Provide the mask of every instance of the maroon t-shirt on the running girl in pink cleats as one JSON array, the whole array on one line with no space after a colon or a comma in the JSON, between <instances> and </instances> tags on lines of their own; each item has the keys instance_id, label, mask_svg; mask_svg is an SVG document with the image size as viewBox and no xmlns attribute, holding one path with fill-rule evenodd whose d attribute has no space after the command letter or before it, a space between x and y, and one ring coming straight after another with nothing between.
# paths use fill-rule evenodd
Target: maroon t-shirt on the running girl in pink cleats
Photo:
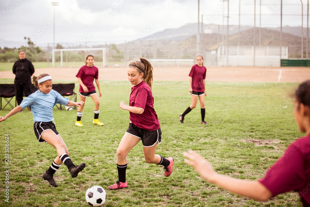
<instances>
[{"instance_id":1,"label":"maroon t-shirt on the running girl in pink cleats","mask_svg":"<svg viewBox=\"0 0 310 207\"><path fill-rule=\"evenodd\" d=\"M139 128L154 131L160 128L157 114L154 110L154 98L148 84L141 81L136 86L131 88L129 106L144 108L142 114L129 112L131 123Z\"/></svg>"}]
</instances>

